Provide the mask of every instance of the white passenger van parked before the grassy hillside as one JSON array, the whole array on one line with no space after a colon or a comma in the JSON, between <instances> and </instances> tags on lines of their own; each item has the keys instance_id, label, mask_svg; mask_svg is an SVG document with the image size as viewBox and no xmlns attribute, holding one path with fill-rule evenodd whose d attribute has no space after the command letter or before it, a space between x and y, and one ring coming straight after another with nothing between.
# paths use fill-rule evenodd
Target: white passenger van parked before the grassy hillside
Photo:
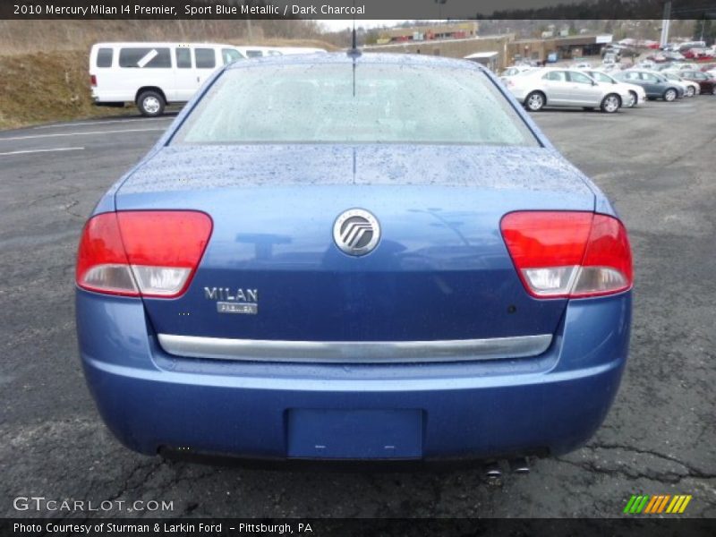
<instances>
[{"instance_id":1,"label":"white passenger van parked before the grassy hillside","mask_svg":"<svg viewBox=\"0 0 716 537\"><path fill-rule=\"evenodd\" d=\"M142 115L161 115L167 104L192 98L222 65L272 50L217 43L98 43L90 51L92 99L105 107L134 103Z\"/></svg>"}]
</instances>

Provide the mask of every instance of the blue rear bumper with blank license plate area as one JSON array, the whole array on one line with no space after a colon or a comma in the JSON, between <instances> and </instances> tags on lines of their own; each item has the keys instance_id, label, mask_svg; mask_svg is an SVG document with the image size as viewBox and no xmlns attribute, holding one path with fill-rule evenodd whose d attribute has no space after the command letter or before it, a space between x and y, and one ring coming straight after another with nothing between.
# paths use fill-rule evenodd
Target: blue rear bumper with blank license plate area
<instances>
[{"instance_id":1,"label":"blue rear bumper with blank license plate area","mask_svg":"<svg viewBox=\"0 0 716 537\"><path fill-rule=\"evenodd\" d=\"M78 291L77 314L90 391L132 449L430 461L583 444L617 393L631 294L572 301L540 356L433 364L175 358L158 346L139 300Z\"/></svg>"}]
</instances>

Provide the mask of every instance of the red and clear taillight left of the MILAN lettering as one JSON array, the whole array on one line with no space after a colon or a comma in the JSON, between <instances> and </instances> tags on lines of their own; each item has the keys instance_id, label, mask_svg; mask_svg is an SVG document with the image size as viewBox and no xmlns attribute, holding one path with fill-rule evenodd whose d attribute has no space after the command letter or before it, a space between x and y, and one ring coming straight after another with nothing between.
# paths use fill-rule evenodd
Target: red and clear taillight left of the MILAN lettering
<instances>
[{"instance_id":1,"label":"red and clear taillight left of the MILAN lettering","mask_svg":"<svg viewBox=\"0 0 716 537\"><path fill-rule=\"evenodd\" d=\"M77 255L83 289L173 298L186 291L209 243L211 218L197 211L121 211L92 217Z\"/></svg>"}]
</instances>

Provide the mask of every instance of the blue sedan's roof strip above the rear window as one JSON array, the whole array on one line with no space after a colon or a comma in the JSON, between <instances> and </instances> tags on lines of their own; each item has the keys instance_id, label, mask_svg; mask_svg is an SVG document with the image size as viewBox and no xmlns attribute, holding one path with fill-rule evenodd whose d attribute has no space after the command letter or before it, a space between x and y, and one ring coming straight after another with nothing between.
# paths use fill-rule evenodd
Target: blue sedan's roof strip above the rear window
<instances>
[{"instance_id":1,"label":"blue sedan's roof strip above the rear window","mask_svg":"<svg viewBox=\"0 0 716 537\"><path fill-rule=\"evenodd\" d=\"M306 65L306 64L386 64L386 65L426 65L435 67L454 67L473 69L486 72L487 70L477 62L464 59L446 58L443 56L420 54L389 54L365 53L361 55L348 55L346 52L315 53L305 55L274 55L261 58L252 58L241 62L227 64L225 69L247 69L258 65Z\"/></svg>"}]
</instances>

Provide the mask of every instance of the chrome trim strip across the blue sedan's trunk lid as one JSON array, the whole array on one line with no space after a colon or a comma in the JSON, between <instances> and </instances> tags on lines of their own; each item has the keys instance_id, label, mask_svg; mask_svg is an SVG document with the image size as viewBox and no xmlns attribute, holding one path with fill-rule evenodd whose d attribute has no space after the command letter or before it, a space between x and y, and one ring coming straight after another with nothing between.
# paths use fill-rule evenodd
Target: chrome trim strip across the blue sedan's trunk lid
<instances>
[{"instance_id":1,"label":"chrome trim strip across the blue sedan's trunk lid","mask_svg":"<svg viewBox=\"0 0 716 537\"><path fill-rule=\"evenodd\" d=\"M536 356L551 334L444 341L278 341L159 334L169 354L251 362L469 362Z\"/></svg>"}]
</instances>

